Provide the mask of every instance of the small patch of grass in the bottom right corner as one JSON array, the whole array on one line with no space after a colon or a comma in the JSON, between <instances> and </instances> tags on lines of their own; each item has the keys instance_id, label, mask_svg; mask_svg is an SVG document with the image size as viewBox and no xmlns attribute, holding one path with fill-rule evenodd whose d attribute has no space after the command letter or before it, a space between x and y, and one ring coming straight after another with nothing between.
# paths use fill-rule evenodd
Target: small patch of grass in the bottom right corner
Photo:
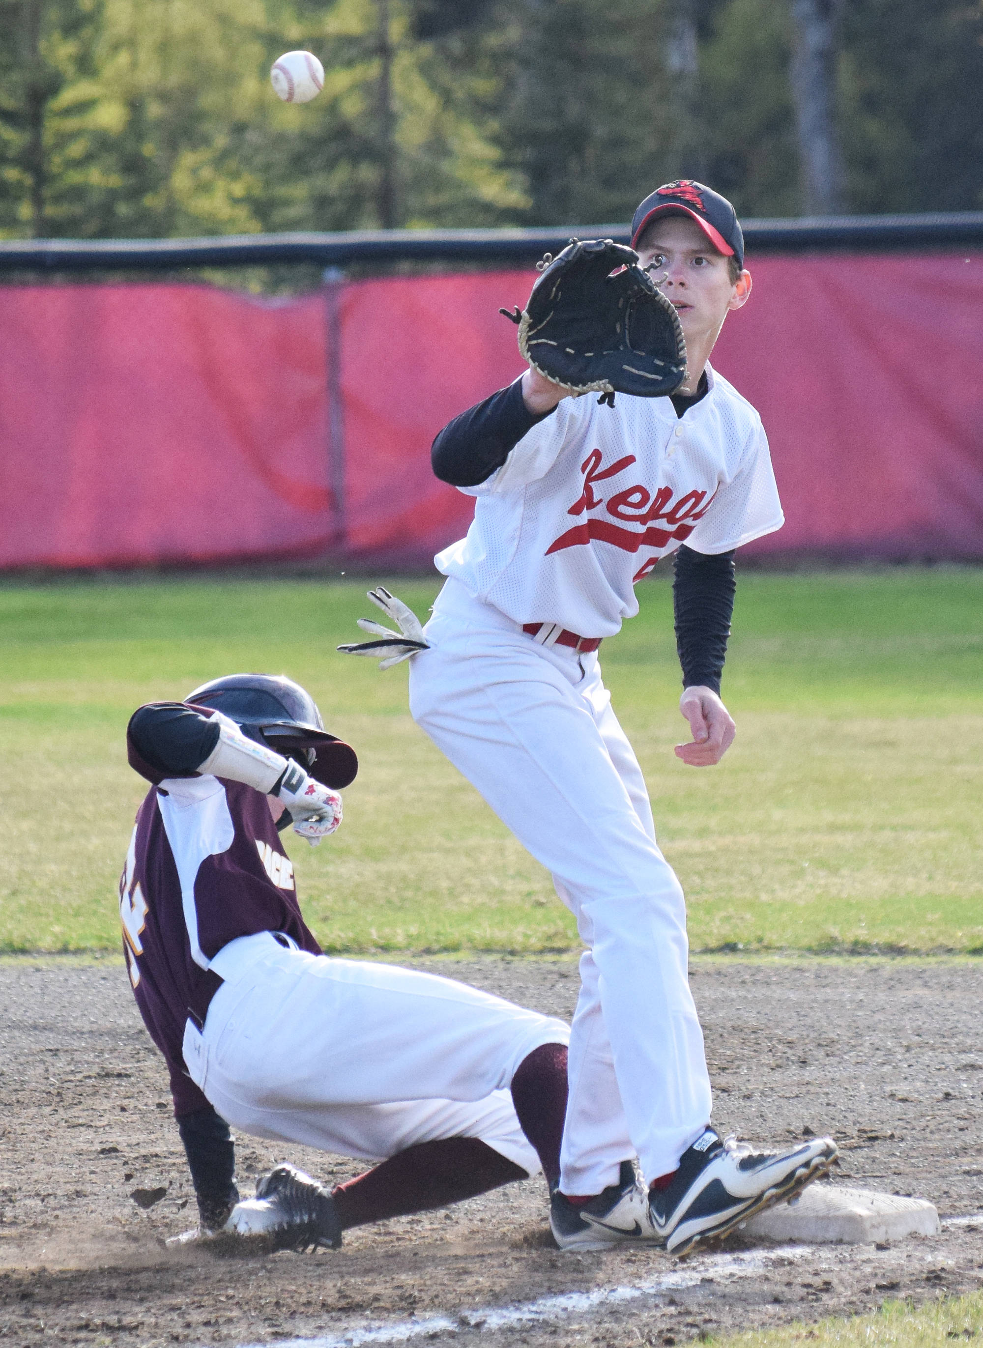
<instances>
[{"instance_id":1,"label":"small patch of grass in the bottom right corner","mask_svg":"<svg viewBox=\"0 0 983 1348\"><path fill-rule=\"evenodd\" d=\"M983 1294L947 1297L913 1310L906 1302L887 1301L868 1316L793 1324L779 1329L752 1329L713 1339L719 1348L952 1348L983 1335Z\"/></svg>"}]
</instances>

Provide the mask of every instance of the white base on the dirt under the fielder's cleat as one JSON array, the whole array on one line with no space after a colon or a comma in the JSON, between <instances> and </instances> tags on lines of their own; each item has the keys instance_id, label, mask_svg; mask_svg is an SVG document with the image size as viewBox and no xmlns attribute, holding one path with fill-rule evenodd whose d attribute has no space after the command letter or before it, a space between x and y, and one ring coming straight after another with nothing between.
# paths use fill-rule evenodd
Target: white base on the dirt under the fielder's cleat
<instances>
[{"instance_id":1,"label":"white base on the dirt under the fielder's cleat","mask_svg":"<svg viewBox=\"0 0 983 1348\"><path fill-rule=\"evenodd\" d=\"M744 1236L847 1246L937 1236L940 1229L939 1213L925 1198L895 1198L832 1184L812 1184L801 1197L759 1212L740 1227Z\"/></svg>"}]
</instances>

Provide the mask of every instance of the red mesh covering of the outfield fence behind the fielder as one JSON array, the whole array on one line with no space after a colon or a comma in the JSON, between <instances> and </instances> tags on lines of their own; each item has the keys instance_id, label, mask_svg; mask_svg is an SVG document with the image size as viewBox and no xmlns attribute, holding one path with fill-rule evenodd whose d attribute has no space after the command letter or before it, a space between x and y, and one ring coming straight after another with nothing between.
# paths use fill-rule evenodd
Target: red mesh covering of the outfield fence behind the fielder
<instances>
[{"instance_id":1,"label":"red mesh covering of the outfield fence behind the fielder","mask_svg":"<svg viewBox=\"0 0 983 1348\"><path fill-rule=\"evenodd\" d=\"M747 551L983 558L983 251L748 267L713 363L787 522ZM423 558L472 514L430 442L520 372L534 275L0 287L0 568Z\"/></svg>"}]
</instances>

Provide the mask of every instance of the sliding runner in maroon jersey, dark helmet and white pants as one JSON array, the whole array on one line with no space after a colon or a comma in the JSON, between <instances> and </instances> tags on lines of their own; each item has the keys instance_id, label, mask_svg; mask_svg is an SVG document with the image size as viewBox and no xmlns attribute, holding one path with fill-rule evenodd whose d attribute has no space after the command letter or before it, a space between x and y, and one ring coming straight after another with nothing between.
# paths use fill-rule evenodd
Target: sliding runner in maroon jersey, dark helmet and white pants
<instances>
[{"instance_id":1,"label":"sliding runner in maroon jersey, dark helmet and white pants","mask_svg":"<svg viewBox=\"0 0 983 1348\"><path fill-rule=\"evenodd\" d=\"M329 958L303 922L278 830L333 833L334 789L357 770L310 696L227 675L139 708L127 744L151 789L120 880L123 948L201 1231L337 1247L348 1227L541 1169L556 1182L568 1026L450 979ZM382 1165L330 1193L280 1165L240 1202L229 1124Z\"/></svg>"}]
</instances>

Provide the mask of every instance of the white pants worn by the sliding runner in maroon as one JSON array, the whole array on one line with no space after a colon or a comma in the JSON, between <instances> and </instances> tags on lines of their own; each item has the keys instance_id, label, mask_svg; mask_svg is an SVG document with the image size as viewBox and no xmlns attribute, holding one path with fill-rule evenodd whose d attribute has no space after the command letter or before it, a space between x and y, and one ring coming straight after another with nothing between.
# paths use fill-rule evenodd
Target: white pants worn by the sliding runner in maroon
<instances>
[{"instance_id":1,"label":"white pants worn by the sliding runner in maroon","mask_svg":"<svg viewBox=\"0 0 983 1348\"><path fill-rule=\"evenodd\" d=\"M191 1080L236 1128L382 1161L419 1142L480 1138L529 1174L539 1161L510 1082L562 1020L463 983L240 937L212 968L225 981L200 1033Z\"/></svg>"}]
</instances>

